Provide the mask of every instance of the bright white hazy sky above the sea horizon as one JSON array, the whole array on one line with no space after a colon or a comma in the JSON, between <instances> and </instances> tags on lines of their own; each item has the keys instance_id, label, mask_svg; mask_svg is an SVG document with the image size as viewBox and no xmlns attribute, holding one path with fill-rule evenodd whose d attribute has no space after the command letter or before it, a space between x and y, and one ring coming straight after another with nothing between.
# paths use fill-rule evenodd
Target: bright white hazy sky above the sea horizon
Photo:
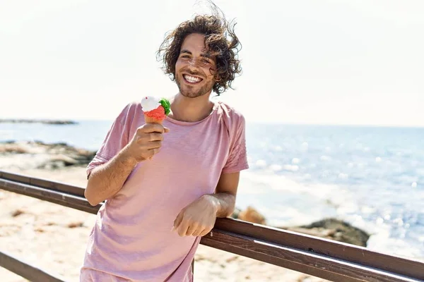
<instances>
[{"instance_id":1,"label":"bright white hazy sky above the sea horizon","mask_svg":"<svg viewBox=\"0 0 424 282\"><path fill-rule=\"evenodd\" d=\"M196 1L1 1L0 118L112 119L176 85L155 61ZM216 1L247 121L424 126L424 1Z\"/></svg>"}]
</instances>

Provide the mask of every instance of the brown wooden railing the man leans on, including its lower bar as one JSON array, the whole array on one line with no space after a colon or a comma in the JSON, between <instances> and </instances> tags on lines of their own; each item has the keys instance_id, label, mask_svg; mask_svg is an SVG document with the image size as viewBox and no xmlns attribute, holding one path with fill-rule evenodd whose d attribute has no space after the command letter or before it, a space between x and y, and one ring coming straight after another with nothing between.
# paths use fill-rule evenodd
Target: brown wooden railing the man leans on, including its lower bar
<instances>
[{"instance_id":1,"label":"brown wooden railing the man leans on, including its lower bar","mask_svg":"<svg viewBox=\"0 0 424 282\"><path fill-rule=\"evenodd\" d=\"M0 189L96 214L84 189L0 171ZM235 219L217 219L201 244L330 281L424 281L424 263L334 240ZM63 281L0 250L0 266L30 281Z\"/></svg>"}]
</instances>

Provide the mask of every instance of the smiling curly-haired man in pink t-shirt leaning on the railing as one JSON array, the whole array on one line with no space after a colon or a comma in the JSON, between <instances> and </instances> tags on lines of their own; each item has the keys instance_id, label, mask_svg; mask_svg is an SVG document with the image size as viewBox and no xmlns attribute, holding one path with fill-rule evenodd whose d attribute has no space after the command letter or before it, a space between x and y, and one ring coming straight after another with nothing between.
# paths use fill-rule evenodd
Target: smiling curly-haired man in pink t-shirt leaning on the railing
<instances>
[{"instance_id":1,"label":"smiling curly-haired man in pink t-shirt leaning on the railing","mask_svg":"<svg viewBox=\"0 0 424 282\"><path fill-rule=\"evenodd\" d=\"M105 204L81 281L192 281L200 238L232 214L248 168L245 119L209 99L240 73L233 27L219 16L181 23L158 51L179 89L170 115L145 124L136 102L112 124L87 168L86 198Z\"/></svg>"}]
</instances>

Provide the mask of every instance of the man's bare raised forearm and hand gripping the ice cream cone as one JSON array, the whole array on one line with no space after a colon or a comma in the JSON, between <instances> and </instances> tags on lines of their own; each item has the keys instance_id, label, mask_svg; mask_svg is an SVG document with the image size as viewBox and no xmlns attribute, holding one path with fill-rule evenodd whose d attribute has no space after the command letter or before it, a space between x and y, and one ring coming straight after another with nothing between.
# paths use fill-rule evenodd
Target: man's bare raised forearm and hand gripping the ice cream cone
<instances>
[{"instance_id":1,"label":"man's bare raised forearm and hand gripping the ice cream cone","mask_svg":"<svg viewBox=\"0 0 424 282\"><path fill-rule=\"evenodd\" d=\"M84 192L88 202L95 206L119 192L134 166L159 152L163 133L168 131L162 125L153 123L139 127L129 144L110 161L91 171Z\"/></svg>"}]
</instances>

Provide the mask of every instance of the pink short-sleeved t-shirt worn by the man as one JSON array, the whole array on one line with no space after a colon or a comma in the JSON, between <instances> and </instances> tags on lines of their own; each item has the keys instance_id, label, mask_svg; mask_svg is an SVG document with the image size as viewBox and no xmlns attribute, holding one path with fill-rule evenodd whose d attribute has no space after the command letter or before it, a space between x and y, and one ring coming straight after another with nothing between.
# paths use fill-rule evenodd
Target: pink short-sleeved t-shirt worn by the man
<instances>
[{"instance_id":1,"label":"pink short-sleeved t-shirt worn by the man","mask_svg":"<svg viewBox=\"0 0 424 282\"><path fill-rule=\"evenodd\" d=\"M128 104L112 124L87 173L109 161L143 125L140 103ZM221 173L248 168L245 118L218 102L198 122L167 117L162 148L139 163L106 200L88 238L81 281L192 281L200 238L171 231L177 214L215 191Z\"/></svg>"}]
</instances>

